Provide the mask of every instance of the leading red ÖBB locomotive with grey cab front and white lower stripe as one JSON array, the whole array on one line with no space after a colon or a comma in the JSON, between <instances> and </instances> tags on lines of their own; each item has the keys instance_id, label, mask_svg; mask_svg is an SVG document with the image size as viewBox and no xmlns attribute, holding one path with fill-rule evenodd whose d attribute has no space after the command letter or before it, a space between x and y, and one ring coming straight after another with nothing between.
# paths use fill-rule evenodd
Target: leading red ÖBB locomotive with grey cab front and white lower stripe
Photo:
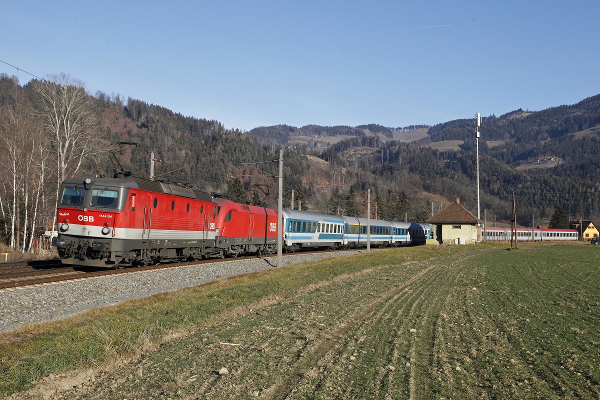
<instances>
[{"instance_id":1,"label":"leading red \u00d6BB locomotive with grey cab front and white lower stripe","mask_svg":"<svg viewBox=\"0 0 600 400\"><path fill-rule=\"evenodd\" d=\"M57 212L63 263L122 268L215 252L217 204L188 187L86 174L62 182Z\"/></svg>"}]
</instances>

